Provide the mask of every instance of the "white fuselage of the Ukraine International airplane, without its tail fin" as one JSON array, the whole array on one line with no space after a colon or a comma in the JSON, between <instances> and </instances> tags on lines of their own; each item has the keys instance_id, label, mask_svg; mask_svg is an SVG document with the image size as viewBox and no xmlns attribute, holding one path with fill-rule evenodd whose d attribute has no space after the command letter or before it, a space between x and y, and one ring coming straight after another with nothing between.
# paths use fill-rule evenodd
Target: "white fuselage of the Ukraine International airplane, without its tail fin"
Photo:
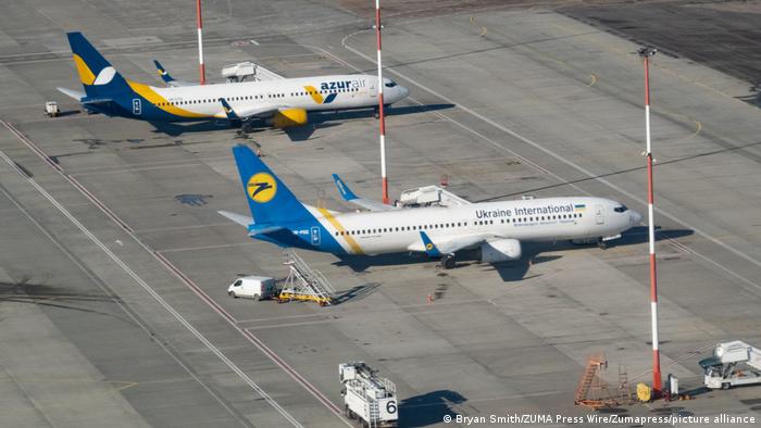
<instances>
[{"instance_id":1,"label":"white fuselage of the Ukraine International airplane, without its tail fin","mask_svg":"<svg viewBox=\"0 0 761 428\"><path fill-rule=\"evenodd\" d=\"M308 206L316 219L284 225L287 230L255 238L336 254L425 251L421 231L436 242L483 235L519 241L613 237L641 216L602 198L549 198L431 206L383 212L335 213ZM616 210L621 210L620 212Z\"/></svg>"}]
</instances>

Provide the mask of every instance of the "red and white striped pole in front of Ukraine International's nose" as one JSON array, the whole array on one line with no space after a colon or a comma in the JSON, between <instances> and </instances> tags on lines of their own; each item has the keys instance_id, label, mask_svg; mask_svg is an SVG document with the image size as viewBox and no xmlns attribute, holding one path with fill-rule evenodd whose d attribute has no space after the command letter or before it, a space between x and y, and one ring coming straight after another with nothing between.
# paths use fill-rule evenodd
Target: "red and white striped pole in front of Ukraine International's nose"
<instances>
[{"instance_id":1,"label":"red and white striped pole in front of Ukraine International's nose","mask_svg":"<svg viewBox=\"0 0 761 428\"><path fill-rule=\"evenodd\" d=\"M650 317L652 327L652 389L661 394L661 355L658 350L658 278L656 275L656 224L653 222L652 146L650 144L650 58L653 48L641 48L638 53L645 65L645 133L647 155L647 213L648 241L650 242Z\"/></svg>"}]
</instances>

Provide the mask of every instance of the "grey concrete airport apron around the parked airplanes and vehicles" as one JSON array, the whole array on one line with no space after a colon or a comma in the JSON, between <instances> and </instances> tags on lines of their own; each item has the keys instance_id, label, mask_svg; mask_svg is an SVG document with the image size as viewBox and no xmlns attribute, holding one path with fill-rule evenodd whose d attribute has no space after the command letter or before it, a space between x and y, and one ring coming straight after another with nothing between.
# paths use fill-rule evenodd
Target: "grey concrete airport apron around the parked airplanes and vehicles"
<instances>
[{"instance_id":1,"label":"grey concrete airport apron around the parked airplanes and vehicles","mask_svg":"<svg viewBox=\"0 0 761 428\"><path fill-rule=\"evenodd\" d=\"M289 77L373 72L366 16L254 3L207 5L211 79L241 60ZM0 425L342 426L336 368L357 360L397 383L408 427L584 417L573 393L595 352L612 390L619 369L632 389L649 381L644 226L608 250L529 243L519 263L452 270L300 252L339 304L228 298L238 275L287 274L280 250L216 213L247 211L230 147L260 148L304 202L350 210L330 173L379 198L377 122L325 113L239 134L87 115L54 89L78 88L63 30L132 79L160 85L153 58L197 77L192 11L92 4L20 2L0 21L0 396L16 410ZM391 194L446 179L472 201L594 194L645 212L637 45L549 10L484 8L386 22L386 76L412 92L387 118ZM753 92L666 55L652 85L662 366L699 393L614 412L758 420L756 389L699 390L697 365L720 341L761 344ZM42 115L48 99L63 116Z\"/></svg>"}]
</instances>

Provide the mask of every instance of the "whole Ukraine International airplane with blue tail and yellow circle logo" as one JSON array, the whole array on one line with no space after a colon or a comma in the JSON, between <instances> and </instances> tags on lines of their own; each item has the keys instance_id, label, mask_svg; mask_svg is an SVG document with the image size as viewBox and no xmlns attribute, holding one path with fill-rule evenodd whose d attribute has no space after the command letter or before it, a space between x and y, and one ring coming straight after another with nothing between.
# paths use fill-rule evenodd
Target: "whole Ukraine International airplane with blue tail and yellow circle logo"
<instances>
[{"instance_id":1,"label":"whole Ukraine International airplane with blue tail and yellow circle logo","mask_svg":"<svg viewBox=\"0 0 761 428\"><path fill-rule=\"evenodd\" d=\"M299 202L246 146L233 148L253 217L221 211L249 236L280 247L334 254L425 252L454 266L454 253L481 249L488 263L521 259L522 241L616 238L643 216L601 198L547 198L398 209L357 198L334 176L345 200L369 212L338 213Z\"/></svg>"}]
</instances>

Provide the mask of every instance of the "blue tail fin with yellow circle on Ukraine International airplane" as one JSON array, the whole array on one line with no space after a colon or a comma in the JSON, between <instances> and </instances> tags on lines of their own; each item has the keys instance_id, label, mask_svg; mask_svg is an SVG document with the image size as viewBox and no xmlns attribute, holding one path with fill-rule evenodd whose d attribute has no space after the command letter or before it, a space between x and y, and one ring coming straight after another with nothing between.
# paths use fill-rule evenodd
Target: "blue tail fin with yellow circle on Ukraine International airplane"
<instances>
[{"instance_id":1,"label":"blue tail fin with yellow circle on Ukraine International airplane","mask_svg":"<svg viewBox=\"0 0 761 428\"><path fill-rule=\"evenodd\" d=\"M314 218L250 148L238 144L233 155L254 222L282 225Z\"/></svg>"}]
</instances>

